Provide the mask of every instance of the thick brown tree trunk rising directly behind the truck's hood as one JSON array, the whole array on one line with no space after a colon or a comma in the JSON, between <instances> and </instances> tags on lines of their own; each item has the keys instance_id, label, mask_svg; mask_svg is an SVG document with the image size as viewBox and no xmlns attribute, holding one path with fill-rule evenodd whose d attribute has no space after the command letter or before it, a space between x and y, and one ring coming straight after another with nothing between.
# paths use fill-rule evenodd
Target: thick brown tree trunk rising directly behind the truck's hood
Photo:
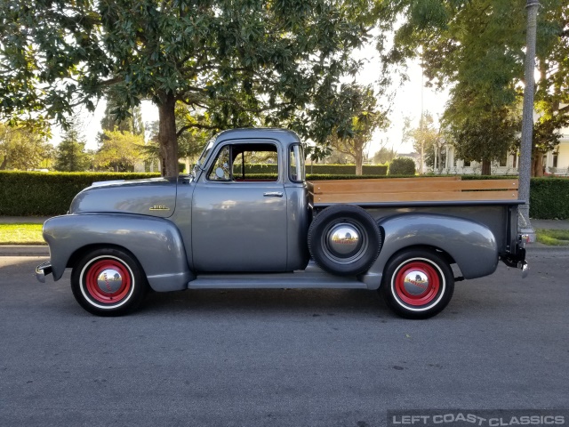
<instances>
[{"instance_id":1,"label":"thick brown tree trunk rising directly behind the truck's hood","mask_svg":"<svg viewBox=\"0 0 569 427\"><path fill-rule=\"evenodd\" d=\"M176 135L176 117L174 107L176 100L173 93L160 93L158 105L158 142L162 157L164 176L178 176L178 137Z\"/></svg>"}]
</instances>

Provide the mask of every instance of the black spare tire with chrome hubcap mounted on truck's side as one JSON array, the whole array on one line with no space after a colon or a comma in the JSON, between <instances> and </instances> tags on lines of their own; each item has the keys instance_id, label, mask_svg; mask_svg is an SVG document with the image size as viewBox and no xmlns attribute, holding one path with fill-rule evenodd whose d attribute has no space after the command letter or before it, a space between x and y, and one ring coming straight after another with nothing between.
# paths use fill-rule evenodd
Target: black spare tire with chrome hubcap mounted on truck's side
<instances>
[{"instance_id":1,"label":"black spare tire with chrome hubcap mounted on truck's side","mask_svg":"<svg viewBox=\"0 0 569 427\"><path fill-rule=\"evenodd\" d=\"M381 250L381 232L372 215L355 205L332 205L309 227L309 251L330 273L354 276L372 266Z\"/></svg>"}]
</instances>

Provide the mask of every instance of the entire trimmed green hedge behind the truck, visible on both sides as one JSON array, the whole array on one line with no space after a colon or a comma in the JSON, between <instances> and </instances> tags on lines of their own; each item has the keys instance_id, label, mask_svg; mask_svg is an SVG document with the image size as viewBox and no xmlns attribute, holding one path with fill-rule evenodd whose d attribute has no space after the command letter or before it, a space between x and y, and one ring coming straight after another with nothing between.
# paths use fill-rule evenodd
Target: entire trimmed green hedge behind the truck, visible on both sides
<instances>
[{"instance_id":1,"label":"entire trimmed green hedge behind the truck, visible on both sides","mask_svg":"<svg viewBox=\"0 0 569 427\"><path fill-rule=\"evenodd\" d=\"M316 167L317 165L315 165ZM342 166L342 165L340 165ZM307 166L307 172L309 172ZM373 166L372 166L373 167ZM385 167L385 166L383 166ZM95 181L133 180L159 176L157 173L41 173L0 171L0 216L51 216L65 214L73 197ZM257 178L270 178L255 173ZM308 180L357 180L389 178L384 174L308 173ZM516 176L462 175L462 180L504 179ZM569 179L533 178L530 189L532 218L569 219Z\"/></svg>"}]
</instances>

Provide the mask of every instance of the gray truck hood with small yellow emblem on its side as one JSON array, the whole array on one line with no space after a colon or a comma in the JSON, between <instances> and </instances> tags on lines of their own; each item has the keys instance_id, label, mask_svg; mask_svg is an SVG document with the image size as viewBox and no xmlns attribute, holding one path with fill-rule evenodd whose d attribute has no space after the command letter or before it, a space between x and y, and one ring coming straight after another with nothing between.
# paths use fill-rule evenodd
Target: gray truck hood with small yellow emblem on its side
<instances>
[{"instance_id":1,"label":"gray truck hood with small yellow emblem on its side","mask_svg":"<svg viewBox=\"0 0 569 427\"><path fill-rule=\"evenodd\" d=\"M168 218L176 208L176 178L95 182L71 202L69 214L120 213Z\"/></svg>"}]
</instances>

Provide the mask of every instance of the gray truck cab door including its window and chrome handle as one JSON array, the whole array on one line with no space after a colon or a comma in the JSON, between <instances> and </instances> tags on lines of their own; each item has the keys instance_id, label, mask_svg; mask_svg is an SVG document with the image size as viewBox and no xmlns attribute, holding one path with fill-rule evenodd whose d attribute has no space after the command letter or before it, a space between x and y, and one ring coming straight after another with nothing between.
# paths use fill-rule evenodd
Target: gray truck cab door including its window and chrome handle
<instances>
[{"instance_id":1,"label":"gray truck cab door including its window and chrome handle","mask_svg":"<svg viewBox=\"0 0 569 427\"><path fill-rule=\"evenodd\" d=\"M228 141L213 158L192 200L195 269L286 270L286 194L277 145Z\"/></svg>"}]
</instances>

